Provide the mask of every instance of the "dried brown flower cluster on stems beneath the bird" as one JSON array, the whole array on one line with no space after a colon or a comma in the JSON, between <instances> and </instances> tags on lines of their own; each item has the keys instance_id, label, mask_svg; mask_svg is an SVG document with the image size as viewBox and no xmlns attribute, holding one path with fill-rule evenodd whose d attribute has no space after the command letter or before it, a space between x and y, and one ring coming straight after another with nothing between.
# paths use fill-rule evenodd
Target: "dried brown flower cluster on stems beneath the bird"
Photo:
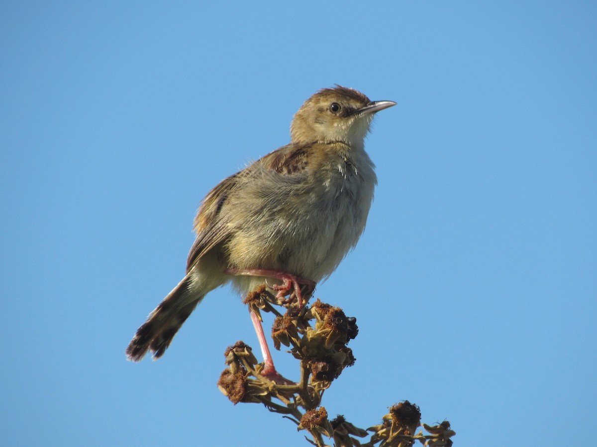
<instances>
[{"instance_id":1,"label":"dried brown flower cluster on stems beneath the bird","mask_svg":"<svg viewBox=\"0 0 597 447\"><path fill-rule=\"evenodd\" d=\"M308 299L307 299L308 300ZM346 344L358 334L356 318L344 315L342 309L317 300L313 305L298 306L293 300L282 300L258 287L247 296L245 303L261 318L260 312L276 315L272 339L276 349L282 345L300 361L300 380L297 383L276 383L261 375L263 364L258 364L251 347L236 342L226 349L228 367L220 375L218 387L233 403L263 403L267 409L284 415L306 430L313 445L323 447L324 437L333 439L336 447L367 446L407 447L417 440L426 446L451 446L454 436L450 423L436 426L423 424L430 434L422 430L421 413L417 405L408 401L390 407L381 424L359 429L347 422L342 415L328 420L328 413L321 406L322 396L332 381L344 368L355 363L352 350ZM306 304L306 303L303 303ZM284 306L284 315L274 306ZM370 436L367 443L356 437Z\"/></svg>"}]
</instances>

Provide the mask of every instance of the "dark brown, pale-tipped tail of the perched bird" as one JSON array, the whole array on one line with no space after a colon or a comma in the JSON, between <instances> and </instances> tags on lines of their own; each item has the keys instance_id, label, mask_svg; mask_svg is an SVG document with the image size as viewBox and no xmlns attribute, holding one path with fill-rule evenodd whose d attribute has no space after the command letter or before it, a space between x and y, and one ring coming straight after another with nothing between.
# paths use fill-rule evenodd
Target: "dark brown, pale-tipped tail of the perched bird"
<instances>
[{"instance_id":1,"label":"dark brown, pale-tipped tail of the perched bird","mask_svg":"<svg viewBox=\"0 0 597 447\"><path fill-rule=\"evenodd\" d=\"M139 362L148 350L153 353L153 359L164 355L174 335L204 296L193 293L191 276L187 275L137 329L127 347L128 359Z\"/></svg>"}]
</instances>

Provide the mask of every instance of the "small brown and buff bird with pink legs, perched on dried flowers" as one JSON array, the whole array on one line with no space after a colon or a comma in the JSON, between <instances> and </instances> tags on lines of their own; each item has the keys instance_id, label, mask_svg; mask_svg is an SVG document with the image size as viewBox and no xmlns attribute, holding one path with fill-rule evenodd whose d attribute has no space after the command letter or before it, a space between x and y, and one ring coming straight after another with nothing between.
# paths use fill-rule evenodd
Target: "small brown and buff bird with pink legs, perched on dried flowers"
<instances>
[{"instance_id":1,"label":"small brown and buff bird with pink legs, perched on dried flowers","mask_svg":"<svg viewBox=\"0 0 597 447\"><path fill-rule=\"evenodd\" d=\"M127 347L140 361L164 355L181 325L220 285L242 294L262 284L278 297L303 295L326 280L365 229L377 185L365 151L374 114L396 105L336 85L294 115L290 144L230 175L202 200L186 275L149 314ZM259 316L251 311L264 377L279 380Z\"/></svg>"}]
</instances>

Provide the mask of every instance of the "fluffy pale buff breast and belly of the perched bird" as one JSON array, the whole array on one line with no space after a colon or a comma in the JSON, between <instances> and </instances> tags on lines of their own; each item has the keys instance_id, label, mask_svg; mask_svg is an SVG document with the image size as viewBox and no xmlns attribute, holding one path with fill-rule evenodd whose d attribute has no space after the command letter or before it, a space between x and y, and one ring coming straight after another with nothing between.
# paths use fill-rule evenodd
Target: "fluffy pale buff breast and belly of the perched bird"
<instances>
[{"instance_id":1,"label":"fluffy pale buff breast and belly of the perched bird","mask_svg":"<svg viewBox=\"0 0 597 447\"><path fill-rule=\"evenodd\" d=\"M365 228L376 176L364 156L363 163L339 156L301 175L266 173L259 191L238 205L245 218L227 244L234 267L327 278Z\"/></svg>"}]
</instances>

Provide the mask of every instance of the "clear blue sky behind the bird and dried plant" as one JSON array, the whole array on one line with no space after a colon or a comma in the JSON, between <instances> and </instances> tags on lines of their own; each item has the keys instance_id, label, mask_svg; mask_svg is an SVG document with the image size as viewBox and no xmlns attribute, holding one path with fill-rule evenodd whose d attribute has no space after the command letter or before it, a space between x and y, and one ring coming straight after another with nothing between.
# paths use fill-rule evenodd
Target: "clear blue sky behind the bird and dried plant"
<instances>
[{"instance_id":1,"label":"clear blue sky behind the bird and dried plant","mask_svg":"<svg viewBox=\"0 0 597 447\"><path fill-rule=\"evenodd\" d=\"M161 360L124 349L204 194L334 83L398 105L365 234L316 290L360 329L330 414L408 399L461 446L592 436L595 3L365 3L2 2L3 445L307 445L216 387L226 346L257 345L229 288Z\"/></svg>"}]
</instances>

